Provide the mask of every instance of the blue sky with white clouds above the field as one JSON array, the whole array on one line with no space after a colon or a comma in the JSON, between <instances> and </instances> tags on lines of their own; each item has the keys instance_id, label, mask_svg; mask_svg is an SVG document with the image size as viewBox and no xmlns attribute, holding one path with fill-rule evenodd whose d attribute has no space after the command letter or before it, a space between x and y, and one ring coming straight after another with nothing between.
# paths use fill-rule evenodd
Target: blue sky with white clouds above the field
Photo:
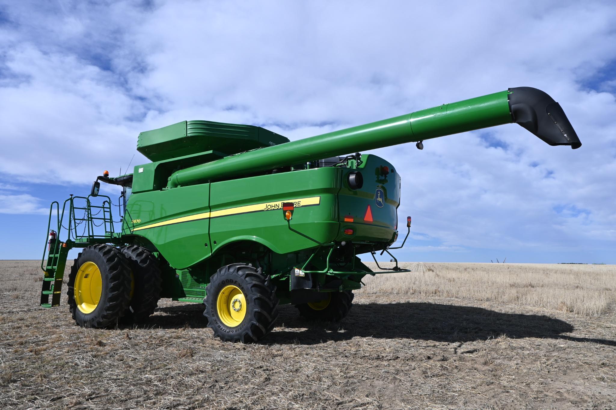
<instances>
[{"instance_id":1,"label":"blue sky with white clouds above the field","mask_svg":"<svg viewBox=\"0 0 616 410\"><path fill-rule=\"evenodd\" d=\"M530 86L582 148L513 124L375 151L413 216L399 259L614 264L615 28L608 1L0 0L0 259L39 257L52 200L146 162L144 130L294 140Z\"/></svg>"}]
</instances>

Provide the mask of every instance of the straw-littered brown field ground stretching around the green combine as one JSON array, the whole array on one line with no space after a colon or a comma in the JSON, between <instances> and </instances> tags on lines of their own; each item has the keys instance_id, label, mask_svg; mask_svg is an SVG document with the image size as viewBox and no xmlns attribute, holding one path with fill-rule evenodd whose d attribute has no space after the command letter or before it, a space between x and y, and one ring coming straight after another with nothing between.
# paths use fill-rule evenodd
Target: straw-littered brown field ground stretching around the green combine
<instances>
[{"instance_id":1,"label":"straw-littered brown field ground stretching around the green combine","mask_svg":"<svg viewBox=\"0 0 616 410\"><path fill-rule=\"evenodd\" d=\"M65 298L38 307L37 262L0 261L0 408L616 408L616 267L568 274L572 290L594 275L571 299L599 306L582 314L537 285L567 266L527 265L533 284L495 264L405 265L417 273L395 275L416 278L368 278L337 325L281 306L269 337L242 345L166 300L147 326L79 328ZM499 281L502 295L472 292Z\"/></svg>"}]
</instances>

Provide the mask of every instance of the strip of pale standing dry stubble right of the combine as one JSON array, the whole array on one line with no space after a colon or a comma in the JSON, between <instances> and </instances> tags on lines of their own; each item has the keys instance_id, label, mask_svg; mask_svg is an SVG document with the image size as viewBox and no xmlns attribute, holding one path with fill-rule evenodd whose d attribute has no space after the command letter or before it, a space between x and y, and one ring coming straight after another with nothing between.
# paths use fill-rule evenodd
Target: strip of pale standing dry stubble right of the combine
<instances>
[{"instance_id":1,"label":"strip of pale standing dry stubble right of the combine","mask_svg":"<svg viewBox=\"0 0 616 410\"><path fill-rule=\"evenodd\" d=\"M415 263L401 266L416 273L368 277L364 280L368 286L360 293L495 301L579 315L607 312L616 301L614 265Z\"/></svg>"}]
</instances>

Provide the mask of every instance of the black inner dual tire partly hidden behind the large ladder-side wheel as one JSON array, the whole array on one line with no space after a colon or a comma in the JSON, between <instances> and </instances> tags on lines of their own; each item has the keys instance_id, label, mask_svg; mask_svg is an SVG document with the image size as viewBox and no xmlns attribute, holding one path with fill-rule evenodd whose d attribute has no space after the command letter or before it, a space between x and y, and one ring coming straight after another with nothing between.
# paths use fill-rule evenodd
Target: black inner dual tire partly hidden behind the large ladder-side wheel
<instances>
[{"instance_id":1,"label":"black inner dual tire partly hidden behind the large ladder-side wheel","mask_svg":"<svg viewBox=\"0 0 616 410\"><path fill-rule=\"evenodd\" d=\"M124 323L139 323L145 321L156 307L162 291L162 279L158 261L154 255L137 245L120 248L132 270L134 288L131 304L124 312Z\"/></svg>"}]
</instances>

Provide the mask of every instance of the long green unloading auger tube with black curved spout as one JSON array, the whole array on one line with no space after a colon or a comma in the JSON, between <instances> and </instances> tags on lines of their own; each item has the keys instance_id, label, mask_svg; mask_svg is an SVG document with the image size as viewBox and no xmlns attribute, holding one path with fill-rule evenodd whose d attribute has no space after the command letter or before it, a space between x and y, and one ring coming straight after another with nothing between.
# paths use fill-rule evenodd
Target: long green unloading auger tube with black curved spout
<instances>
[{"instance_id":1,"label":"long green unloading auger tube with black curved spout","mask_svg":"<svg viewBox=\"0 0 616 410\"><path fill-rule=\"evenodd\" d=\"M559 103L532 87L516 87L370 124L247 151L176 171L168 187L229 179L354 151L418 142L517 123L549 145L582 146Z\"/></svg>"}]
</instances>

